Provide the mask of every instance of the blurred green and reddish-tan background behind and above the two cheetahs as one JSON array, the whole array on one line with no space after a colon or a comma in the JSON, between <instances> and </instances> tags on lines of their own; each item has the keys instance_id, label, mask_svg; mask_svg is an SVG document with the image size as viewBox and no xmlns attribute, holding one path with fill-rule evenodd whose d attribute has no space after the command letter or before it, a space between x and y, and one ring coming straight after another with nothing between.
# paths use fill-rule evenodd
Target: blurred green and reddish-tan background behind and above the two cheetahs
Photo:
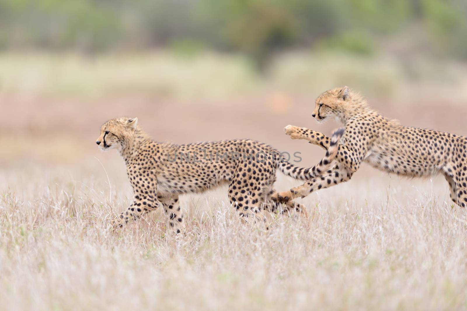
<instances>
[{"instance_id":1,"label":"blurred green and reddish-tan background behind and above the two cheetahs","mask_svg":"<svg viewBox=\"0 0 467 311\"><path fill-rule=\"evenodd\" d=\"M283 127L330 134L314 100L344 85L405 125L467 135L466 16L463 0L0 0L2 186L99 161L124 177L95 145L123 115L156 140L248 137L309 166L323 151Z\"/></svg>"}]
</instances>

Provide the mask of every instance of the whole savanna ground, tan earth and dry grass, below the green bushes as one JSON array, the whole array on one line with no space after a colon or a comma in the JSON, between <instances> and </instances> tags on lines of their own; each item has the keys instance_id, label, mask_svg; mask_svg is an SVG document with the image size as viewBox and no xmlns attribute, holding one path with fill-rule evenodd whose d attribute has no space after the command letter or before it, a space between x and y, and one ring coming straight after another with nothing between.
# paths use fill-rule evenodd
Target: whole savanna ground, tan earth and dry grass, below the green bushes
<instances>
[{"instance_id":1,"label":"whole savanna ground, tan earth and dry grass, below the green bushes","mask_svg":"<svg viewBox=\"0 0 467 311\"><path fill-rule=\"evenodd\" d=\"M467 212L437 176L363 168L302 200L309 218L241 224L226 189L183 196L185 235L156 211L116 232L132 192L107 119L137 116L156 140L249 137L302 153L283 135L314 98L349 85L403 124L467 135L463 63L286 54L255 74L245 60L156 52L83 58L0 55L0 309L466 310ZM299 182L279 174L276 189Z\"/></svg>"}]
</instances>

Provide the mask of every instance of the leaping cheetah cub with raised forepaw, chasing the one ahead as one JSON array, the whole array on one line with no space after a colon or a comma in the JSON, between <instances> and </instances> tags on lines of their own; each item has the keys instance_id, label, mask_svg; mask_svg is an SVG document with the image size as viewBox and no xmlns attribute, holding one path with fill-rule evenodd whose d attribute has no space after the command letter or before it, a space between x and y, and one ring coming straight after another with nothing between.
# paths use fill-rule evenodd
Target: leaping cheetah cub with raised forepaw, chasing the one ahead
<instances>
[{"instance_id":1,"label":"leaping cheetah cub with raised forepaw, chasing the one ahead","mask_svg":"<svg viewBox=\"0 0 467 311\"><path fill-rule=\"evenodd\" d=\"M367 162L377 169L401 176L421 177L442 173L449 183L454 203L467 204L467 138L423 128L405 127L368 107L367 101L348 87L334 88L319 95L313 111L318 122L336 118L345 125L338 145L336 164L309 182L273 196L290 202L311 192L347 182ZM289 125L285 134L305 139L328 150L329 138L308 128ZM325 161L329 161L327 157Z\"/></svg>"}]
</instances>

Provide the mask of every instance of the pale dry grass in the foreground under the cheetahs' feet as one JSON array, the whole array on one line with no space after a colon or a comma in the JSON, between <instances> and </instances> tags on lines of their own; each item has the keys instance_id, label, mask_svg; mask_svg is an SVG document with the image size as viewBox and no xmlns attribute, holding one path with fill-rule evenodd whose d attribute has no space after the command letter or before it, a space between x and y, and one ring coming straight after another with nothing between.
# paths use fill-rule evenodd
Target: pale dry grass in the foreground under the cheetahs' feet
<instances>
[{"instance_id":1,"label":"pale dry grass in the foreground under the cheetahs' feet","mask_svg":"<svg viewBox=\"0 0 467 311\"><path fill-rule=\"evenodd\" d=\"M131 191L122 163L102 161L112 197L96 159L1 172L0 309L467 309L467 214L442 179L362 172L266 233L239 223L225 189L184 196L174 237L161 212L107 229Z\"/></svg>"}]
</instances>

